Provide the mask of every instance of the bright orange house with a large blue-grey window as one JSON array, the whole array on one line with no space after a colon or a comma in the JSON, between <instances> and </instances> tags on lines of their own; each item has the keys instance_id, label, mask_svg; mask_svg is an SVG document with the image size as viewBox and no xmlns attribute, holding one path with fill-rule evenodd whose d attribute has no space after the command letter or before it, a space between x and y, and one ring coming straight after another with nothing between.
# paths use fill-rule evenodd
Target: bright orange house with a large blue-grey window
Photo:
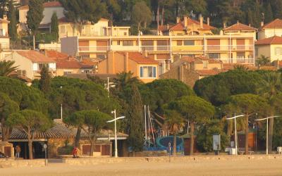
<instances>
[{"instance_id":1,"label":"bright orange house with a large blue-grey window","mask_svg":"<svg viewBox=\"0 0 282 176\"><path fill-rule=\"evenodd\" d=\"M159 62L139 52L109 51L108 57L98 64L99 74L131 72L142 82L152 82L159 78Z\"/></svg>"}]
</instances>

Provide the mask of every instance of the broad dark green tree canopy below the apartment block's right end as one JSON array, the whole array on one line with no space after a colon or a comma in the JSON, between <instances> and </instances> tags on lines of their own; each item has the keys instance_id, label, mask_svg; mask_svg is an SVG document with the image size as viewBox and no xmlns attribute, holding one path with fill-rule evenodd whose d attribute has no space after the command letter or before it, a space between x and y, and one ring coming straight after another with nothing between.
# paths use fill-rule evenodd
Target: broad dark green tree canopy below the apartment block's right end
<instances>
[{"instance_id":1,"label":"broad dark green tree canopy below the apartment block's right end","mask_svg":"<svg viewBox=\"0 0 282 176\"><path fill-rule=\"evenodd\" d=\"M262 73L236 69L197 80L194 90L198 96L210 101L214 106L220 106L226 103L228 96L257 93L259 82L262 82Z\"/></svg>"}]
</instances>

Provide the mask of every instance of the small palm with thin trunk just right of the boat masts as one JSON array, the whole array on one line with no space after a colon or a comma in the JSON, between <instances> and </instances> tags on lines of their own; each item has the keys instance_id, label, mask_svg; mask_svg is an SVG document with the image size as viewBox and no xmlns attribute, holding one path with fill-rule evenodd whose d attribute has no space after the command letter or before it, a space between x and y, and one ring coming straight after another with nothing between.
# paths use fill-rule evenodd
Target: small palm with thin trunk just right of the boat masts
<instances>
[{"instance_id":1,"label":"small palm with thin trunk just right of the boat masts","mask_svg":"<svg viewBox=\"0 0 282 176\"><path fill-rule=\"evenodd\" d=\"M184 119L177 111L166 111L165 125L173 133L173 156L176 156L176 135L184 127Z\"/></svg>"}]
</instances>

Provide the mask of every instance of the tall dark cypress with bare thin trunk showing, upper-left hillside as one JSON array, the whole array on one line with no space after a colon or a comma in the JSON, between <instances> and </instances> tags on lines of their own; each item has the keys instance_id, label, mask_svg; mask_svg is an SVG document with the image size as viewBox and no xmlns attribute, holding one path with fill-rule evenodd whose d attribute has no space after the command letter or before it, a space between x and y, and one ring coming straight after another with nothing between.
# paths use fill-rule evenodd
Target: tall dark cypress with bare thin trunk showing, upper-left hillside
<instances>
[{"instance_id":1,"label":"tall dark cypress with bare thin trunk showing, upper-left hillside","mask_svg":"<svg viewBox=\"0 0 282 176\"><path fill-rule=\"evenodd\" d=\"M39 24L41 23L43 15L43 1L30 0L28 4L29 11L27 11L27 26L33 35L33 49L35 49L35 34L37 33Z\"/></svg>"}]
</instances>

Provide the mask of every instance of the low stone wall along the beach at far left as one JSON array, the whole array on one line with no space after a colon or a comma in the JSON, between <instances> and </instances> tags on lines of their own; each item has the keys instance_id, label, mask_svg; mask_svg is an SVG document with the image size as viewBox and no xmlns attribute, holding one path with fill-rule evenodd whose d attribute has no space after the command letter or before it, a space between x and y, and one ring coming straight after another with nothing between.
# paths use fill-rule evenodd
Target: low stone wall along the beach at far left
<instances>
[{"instance_id":1,"label":"low stone wall along the beach at far left","mask_svg":"<svg viewBox=\"0 0 282 176\"><path fill-rule=\"evenodd\" d=\"M45 166L44 159L14 160L14 159L0 158L0 168L43 167L43 166Z\"/></svg>"}]
</instances>

